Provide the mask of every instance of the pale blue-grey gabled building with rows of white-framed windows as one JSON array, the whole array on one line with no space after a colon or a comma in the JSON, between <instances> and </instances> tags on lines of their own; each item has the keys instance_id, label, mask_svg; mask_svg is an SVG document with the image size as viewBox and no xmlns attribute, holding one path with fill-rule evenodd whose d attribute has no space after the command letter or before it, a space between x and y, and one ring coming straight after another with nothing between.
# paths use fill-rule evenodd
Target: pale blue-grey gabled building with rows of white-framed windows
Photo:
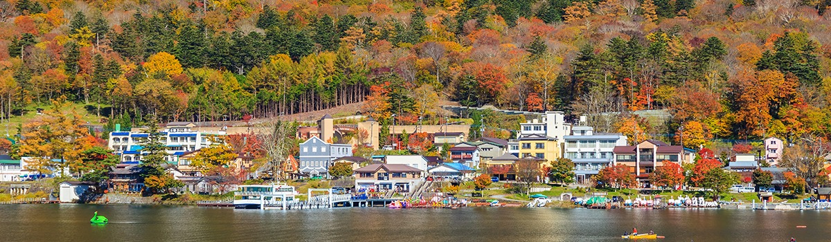
<instances>
[{"instance_id":1,"label":"pale blue-grey gabled building with rows of white-framed windows","mask_svg":"<svg viewBox=\"0 0 831 242\"><path fill-rule=\"evenodd\" d=\"M307 177L328 177L332 162L340 157L352 155L352 145L347 143L326 143L317 136L300 143L300 168L298 172Z\"/></svg>"}]
</instances>

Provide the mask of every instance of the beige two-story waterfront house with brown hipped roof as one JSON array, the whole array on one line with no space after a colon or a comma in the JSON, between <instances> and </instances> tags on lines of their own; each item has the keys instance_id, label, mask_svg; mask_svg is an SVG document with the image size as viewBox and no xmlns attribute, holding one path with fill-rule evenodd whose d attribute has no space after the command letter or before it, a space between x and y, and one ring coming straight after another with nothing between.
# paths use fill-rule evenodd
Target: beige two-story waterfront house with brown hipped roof
<instances>
[{"instance_id":1,"label":"beige two-story waterfront house with brown hipped roof","mask_svg":"<svg viewBox=\"0 0 831 242\"><path fill-rule=\"evenodd\" d=\"M424 171L401 164L371 164L353 172L357 190L396 189L406 192L421 183L421 173Z\"/></svg>"}]
</instances>

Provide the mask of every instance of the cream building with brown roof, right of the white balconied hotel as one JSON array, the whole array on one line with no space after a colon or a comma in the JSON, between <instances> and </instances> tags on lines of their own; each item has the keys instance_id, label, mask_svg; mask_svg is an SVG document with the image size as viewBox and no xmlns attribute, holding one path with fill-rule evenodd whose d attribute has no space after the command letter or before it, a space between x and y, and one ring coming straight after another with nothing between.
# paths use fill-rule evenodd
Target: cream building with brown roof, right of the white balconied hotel
<instances>
[{"instance_id":1,"label":"cream building with brown roof, right of the white balconied hotel","mask_svg":"<svg viewBox=\"0 0 831 242\"><path fill-rule=\"evenodd\" d=\"M656 167L661 167L663 161L676 162L679 165L686 162L686 151L683 147L654 139L632 146L616 146L612 152L615 157L612 165L627 165L629 172L635 175L641 187L652 186L649 175Z\"/></svg>"}]
</instances>

